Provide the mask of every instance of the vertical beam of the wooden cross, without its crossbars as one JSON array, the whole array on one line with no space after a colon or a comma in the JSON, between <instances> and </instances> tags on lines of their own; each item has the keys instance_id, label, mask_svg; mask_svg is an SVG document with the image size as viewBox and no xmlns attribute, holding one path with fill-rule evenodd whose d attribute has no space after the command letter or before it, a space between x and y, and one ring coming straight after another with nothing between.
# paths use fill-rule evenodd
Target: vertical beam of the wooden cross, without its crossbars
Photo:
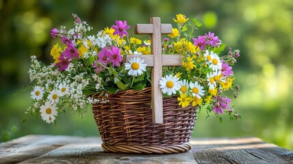
<instances>
[{"instance_id":1,"label":"vertical beam of the wooden cross, without its crossbars","mask_svg":"<svg viewBox=\"0 0 293 164\"><path fill-rule=\"evenodd\" d=\"M158 17L150 18L153 25L151 36L151 53L154 54L154 68L152 68L152 122L163 124L163 93L160 88L162 77L162 42L161 42L161 19Z\"/></svg>"}]
</instances>

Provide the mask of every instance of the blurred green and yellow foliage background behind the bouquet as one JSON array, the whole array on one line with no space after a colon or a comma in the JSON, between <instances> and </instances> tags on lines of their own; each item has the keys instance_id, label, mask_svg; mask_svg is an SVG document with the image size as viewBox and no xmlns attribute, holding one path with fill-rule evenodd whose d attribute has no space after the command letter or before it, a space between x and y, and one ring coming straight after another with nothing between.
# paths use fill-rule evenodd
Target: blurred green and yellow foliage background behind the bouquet
<instances>
[{"instance_id":1,"label":"blurred green and yellow foliage background behind the bouquet","mask_svg":"<svg viewBox=\"0 0 293 164\"><path fill-rule=\"evenodd\" d=\"M241 51L234 67L241 90L233 104L242 119L225 117L219 124L214 115L206 120L201 112L193 137L255 136L293 150L292 0L0 0L0 141L29 134L99 135L90 112L85 118L62 115L55 126L33 117L22 123L30 94L12 96L29 85L29 56L52 61L50 29L71 28L72 13L94 27L92 34L115 20L128 20L133 27L149 23L152 16L160 16L162 23L173 23L180 13L196 16L203 23L199 35L213 31Z\"/></svg>"}]
</instances>

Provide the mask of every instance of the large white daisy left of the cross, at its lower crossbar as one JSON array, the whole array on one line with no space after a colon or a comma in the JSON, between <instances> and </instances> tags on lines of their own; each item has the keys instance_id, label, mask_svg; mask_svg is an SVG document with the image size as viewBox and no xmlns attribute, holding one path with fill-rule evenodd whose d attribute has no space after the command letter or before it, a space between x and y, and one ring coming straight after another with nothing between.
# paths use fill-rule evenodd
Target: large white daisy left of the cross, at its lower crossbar
<instances>
[{"instance_id":1,"label":"large white daisy left of the cross, at its lower crossbar","mask_svg":"<svg viewBox=\"0 0 293 164\"><path fill-rule=\"evenodd\" d=\"M125 64L125 69L129 70L128 74L137 77L137 75L143 74L143 71L145 71L146 64L144 63L144 59L141 59L140 57L133 57L130 58L129 63Z\"/></svg>"}]
</instances>

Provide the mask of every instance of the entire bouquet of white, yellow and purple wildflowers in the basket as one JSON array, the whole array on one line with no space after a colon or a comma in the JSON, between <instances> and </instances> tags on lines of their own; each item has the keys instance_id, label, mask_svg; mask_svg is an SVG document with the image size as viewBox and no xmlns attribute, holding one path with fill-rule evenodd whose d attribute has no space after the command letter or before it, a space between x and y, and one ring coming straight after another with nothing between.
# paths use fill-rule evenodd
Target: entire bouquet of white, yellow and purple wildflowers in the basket
<instances>
[{"instance_id":1,"label":"entire bouquet of white, yellow and purple wildflowers in the basket","mask_svg":"<svg viewBox=\"0 0 293 164\"><path fill-rule=\"evenodd\" d=\"M41 116L47 123L55 122L59 113L66 111L77 111L82 116L90 105L106 103L107 94L143 90L152 81L151 70L143 59L132 57L122 63L124 55L150 54L151 44L150 40L142 42L128 36L130 26L126 20L116 20L115 25L89 35L92 27L76 14L73 17L74 28L51 30L51 36L61 41L51 49L51 65L31 57L33 105L26 113ZM173 20L178 28L162 40L163 54L181 54L183 65L163 68L160 85L164 96L178 96L182 107L204 107L208 115L225 112L232 120L239 118L230 107L231 99L223 93L232 90L237 97L239 87L233 83L232 66L240 51L229 48L226 55L220 56L225 44L214 33L196 34L199 20L189 20L182 14ZM100 96L93 96L97 94Z\"/></svg>"}]
</instances>

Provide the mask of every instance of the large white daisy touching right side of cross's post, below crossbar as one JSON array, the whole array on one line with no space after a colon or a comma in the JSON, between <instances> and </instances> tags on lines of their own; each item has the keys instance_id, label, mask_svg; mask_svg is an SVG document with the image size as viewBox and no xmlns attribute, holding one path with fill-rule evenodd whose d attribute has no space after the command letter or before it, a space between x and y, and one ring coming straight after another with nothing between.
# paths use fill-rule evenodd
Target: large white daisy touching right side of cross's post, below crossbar
<instances>
[{"instance_id":1,"label":"large white daisy touching right side of cross's post, below crossbar","mask_svg":"<svg viewBox=\"0 0 293 164\"><path fill-rule=\"evenodd\" d=\"M172 77L172 74L162 77L160 81L160 87L162 88L163 94L176 94L176 91L180 90L180 81L179 78L175 75Z\"/></svg>"}]
</instances>

